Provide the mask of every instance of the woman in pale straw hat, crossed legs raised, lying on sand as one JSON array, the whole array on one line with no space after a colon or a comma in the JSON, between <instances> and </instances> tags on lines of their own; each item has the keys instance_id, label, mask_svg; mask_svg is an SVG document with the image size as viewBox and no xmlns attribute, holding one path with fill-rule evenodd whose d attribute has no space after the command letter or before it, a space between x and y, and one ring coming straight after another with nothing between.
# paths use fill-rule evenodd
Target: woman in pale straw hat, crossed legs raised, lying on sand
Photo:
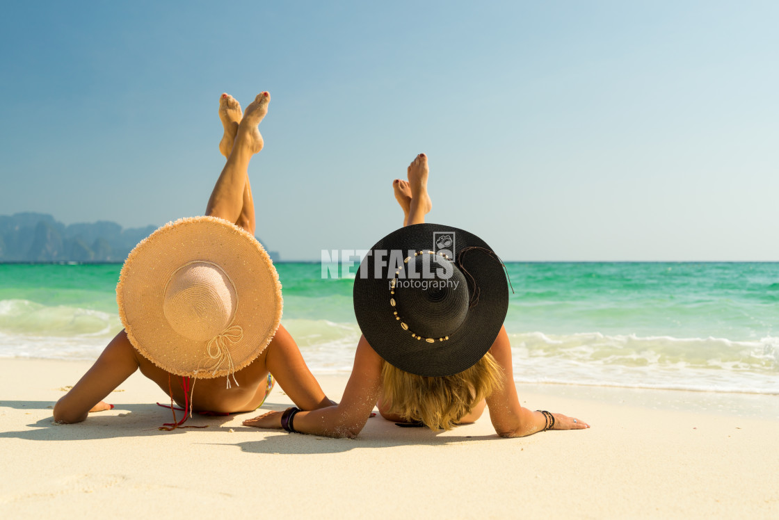
<instances>
[{"instance_id":1,"label":"woman in pale straw hat, crossed legs raised, lying on sand","mask_svg":"<svg viewBox=\"0 0 779 520\"><path fill-rule=\"evenodd\" d=\"M171 408L175 401L185 410L166 429L193 410L257 409L273 378L302 409L333 404L280 325L281 285L254 237L248 167L263 149L257 125L269 102L260 93L242 113L233 97L220 98L227 163L206 216L168 223L132 250L117 286L125 329L57 402L58 422L113 408L102 399L137 369L171 395Z\"/></svg>"}]
</instances>

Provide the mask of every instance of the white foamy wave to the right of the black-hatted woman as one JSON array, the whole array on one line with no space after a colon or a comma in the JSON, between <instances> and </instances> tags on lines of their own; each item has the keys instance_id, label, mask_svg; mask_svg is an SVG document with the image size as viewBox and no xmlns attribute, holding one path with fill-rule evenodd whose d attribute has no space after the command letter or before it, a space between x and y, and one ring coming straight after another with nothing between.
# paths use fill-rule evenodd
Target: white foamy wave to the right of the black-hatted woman
<instances>
[{"instance_id":1,"label":"white foamy wave to the right of the black-hatted woman","mask_svg":"<svg viewBox=\"0 0 779 520\"><path fill-rule=\"evenodd\" d=\"M779 338L509 334L514 380L779 395Z\"/></svg>"}]
</instances>

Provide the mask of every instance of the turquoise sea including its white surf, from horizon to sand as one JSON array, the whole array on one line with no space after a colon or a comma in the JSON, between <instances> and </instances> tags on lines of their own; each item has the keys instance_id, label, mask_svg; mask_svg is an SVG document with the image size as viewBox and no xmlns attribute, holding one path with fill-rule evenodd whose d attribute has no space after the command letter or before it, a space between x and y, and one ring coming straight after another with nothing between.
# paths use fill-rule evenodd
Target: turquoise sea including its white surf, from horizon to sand
<instances>
[{"instance_id":1,"label":"turquoise sea including its white surf, from horizon to sand","mask_svg":"<svg viewBox=\"0 0 779 520\"><path fill-rule=\"evenodd\" d=\"M0 264L0 357L93 360L120 264ZM779 263L509 263L516 381L779 394ZM278 263L315 373L351 370L351 279Z\"/></svg>"}]
</instances>

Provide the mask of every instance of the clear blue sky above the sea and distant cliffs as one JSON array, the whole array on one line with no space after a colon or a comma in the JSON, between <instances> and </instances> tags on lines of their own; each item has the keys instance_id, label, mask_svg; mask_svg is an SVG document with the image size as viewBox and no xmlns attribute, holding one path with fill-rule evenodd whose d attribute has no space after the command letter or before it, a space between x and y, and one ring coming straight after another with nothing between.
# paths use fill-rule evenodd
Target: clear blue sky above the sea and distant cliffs
<instances>
[{"instance_id":1,"label":"clear blue sky above the sea and distant cliffs","mask_svg":"<svg viewBox=\"0 0 779 520\"><path fill-rule=\"evenodd\" d=\"M776 2L5 2L0 214L202 214L220 93L269 90L249 171L285 259L398 227L425 152L428 221L506 260L779 260L777 26Z\"/></svg>"}]
</instances>

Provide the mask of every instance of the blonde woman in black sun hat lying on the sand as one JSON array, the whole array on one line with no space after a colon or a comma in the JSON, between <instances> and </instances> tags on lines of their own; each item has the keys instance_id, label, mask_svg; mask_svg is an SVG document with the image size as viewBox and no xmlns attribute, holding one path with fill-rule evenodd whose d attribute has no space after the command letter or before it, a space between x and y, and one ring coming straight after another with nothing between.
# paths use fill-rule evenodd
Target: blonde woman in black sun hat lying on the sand
<instances>
[{"instance_id":1,"label":"blonde woman in black sun hat lying on the sand","mask_svg":"<svg viewBox=\"0 0 779 520\"><path fill-rule=\"evenodd\" d=\"M382 238L354 279L354 313L363 336L337 406L292 407L244 421L259 428L354 437L375 405L402 426L448 430L489 408L501 437L589 425L520 405L503 320L509 303L504 266L474 234L425 224L432 208L424 153L396 180L404 227Z\"/></svg>"}]
</instances>

